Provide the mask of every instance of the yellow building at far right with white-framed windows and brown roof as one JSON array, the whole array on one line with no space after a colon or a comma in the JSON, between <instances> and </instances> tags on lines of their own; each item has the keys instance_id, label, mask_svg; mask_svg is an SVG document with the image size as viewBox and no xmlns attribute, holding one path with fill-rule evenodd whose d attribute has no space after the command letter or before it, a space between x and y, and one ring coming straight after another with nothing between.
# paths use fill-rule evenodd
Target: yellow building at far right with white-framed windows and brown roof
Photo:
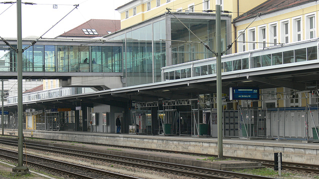
<instances>
[{"instance_id":1,"label":"yellow building at far right with white-framed windows and brown roof","mask_svg":"<svg viewBox=\"0 0 319 179\"><path fill-rule=\"evenodd\" d=\"M298 42L302 47L302 42L319 37L318 13L319 6L316 0L297 2L294 0L267 0L233 19L238 37L235 52L273 48ZM313 60L308 59L309 55L307 55L312 53L311 50L314 49L307 48L306 50L305 48L304 52L299 52L300 55L296 54L296 51L295 54L294 51L280 53L277 56L272 54L268 59L260 58L256 61L252 59L251 63L264 67ZM307 91L276 88L263 89L262 93L277 93L277 98L280 98L265 102L264 105L268 107L301 107L316 102L314 101L316 99L306 97ZM290 97L285 97L283 93L289 94Z\"/></svg>"}]
</instances>

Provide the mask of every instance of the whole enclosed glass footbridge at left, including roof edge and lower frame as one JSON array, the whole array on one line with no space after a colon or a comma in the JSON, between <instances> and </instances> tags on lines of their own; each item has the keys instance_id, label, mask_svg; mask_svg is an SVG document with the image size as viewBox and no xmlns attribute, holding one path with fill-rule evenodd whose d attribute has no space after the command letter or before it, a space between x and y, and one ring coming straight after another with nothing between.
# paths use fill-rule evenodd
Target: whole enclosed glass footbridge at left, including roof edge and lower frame
<instances>
[{"instance_id":1,"label":"whole enclosed glass footbridge at left, including roof edge and lower frame","mask_svg":"<svg viewBox=\"0 0 319 179\"><path fill-rule=\"evenodd\" d=\"M32 39L33 40L33 39ZM23 39L23 47L28 47L30 39ZM7 39L16 48L16 39ZM22 71L73 73L121 73L123 71L123 43L119 40L76 40L76 39L40 39L22 54ZM17 54L15 50L0 45L0 72L17 72ZM67 73L60 73L70 76ZM2 76L4 73L2 74ZM97 74L95 74L97 75ZM114 74L113 74L114 76Z\"/></svg>"}]
</instances>

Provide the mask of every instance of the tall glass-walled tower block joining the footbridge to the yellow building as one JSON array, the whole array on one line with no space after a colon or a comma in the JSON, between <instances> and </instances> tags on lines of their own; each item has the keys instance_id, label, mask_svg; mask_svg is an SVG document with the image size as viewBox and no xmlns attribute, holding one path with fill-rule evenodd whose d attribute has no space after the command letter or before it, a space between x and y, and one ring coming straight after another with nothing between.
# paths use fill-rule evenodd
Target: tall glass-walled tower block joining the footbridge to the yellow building
<instances>
[{"instance_id":1,"label":"tall glass-walled tower block joining the footbridge to the yellow building","mask_svg":"<svg viewBox=\"0 0 319 179\"><path fill-rule=\"evenodd\" d=\"M161 81L161 68L213 57L203 44L215 48L215 15L176 14L182 23L172 15L163 14L135 26L123 29L106 38L122 40L125 46L124 86L134 86ZM187 28L183 25L185 24ZM228 25L227 25L228 24ZM223 16L221 22L222 49L230 43L230 17ZM194 42L194 43L192 43ZM226 63L225 71L232 71L233 65ZM194 71L183 69L167 74L165 79L182 79L196 75L215 73L215 66L198 68Z\"/></svg>"}]
</instances>

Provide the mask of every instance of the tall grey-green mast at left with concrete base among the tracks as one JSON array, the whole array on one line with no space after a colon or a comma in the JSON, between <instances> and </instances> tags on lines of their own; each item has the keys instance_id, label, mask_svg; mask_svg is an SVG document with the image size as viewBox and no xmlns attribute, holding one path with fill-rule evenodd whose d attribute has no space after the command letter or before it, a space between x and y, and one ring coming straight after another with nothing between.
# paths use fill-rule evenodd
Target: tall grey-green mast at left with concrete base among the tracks
<instances>
[{"instance_id":1,"label":"tall grey-green mast at left with concrete base among the tracks","mask_svg":"<svg viewBox=\"0 0 319 179\"><path fill-rule=\"evenodd\" d=\"M13 173L26 174L29 169L23 166L23 104L22 104L22 15L21 0L16 1L17 16L17 61L18 61L18 165L12 169Z\"/></svg>"}]
</instances>

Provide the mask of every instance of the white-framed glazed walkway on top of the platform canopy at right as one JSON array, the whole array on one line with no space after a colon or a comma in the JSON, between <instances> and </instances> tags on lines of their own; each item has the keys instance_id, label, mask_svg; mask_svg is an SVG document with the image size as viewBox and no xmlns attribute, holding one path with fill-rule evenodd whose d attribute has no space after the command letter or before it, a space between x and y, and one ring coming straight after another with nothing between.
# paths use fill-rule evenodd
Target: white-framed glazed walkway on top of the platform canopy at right
<instances>
[{"instance_id":1,"label":"white-framed glazed walkway on top of the platform canopy at right","mask_svg":"<svg viewBox=\"0 0 319 179\"><path fill-rule=\"evenodd\" d=\"M319 63L319 39L222 56L222 75ZM216 57L161 68L162 81L216 76Z\"/></svg>"}]
</instances>

